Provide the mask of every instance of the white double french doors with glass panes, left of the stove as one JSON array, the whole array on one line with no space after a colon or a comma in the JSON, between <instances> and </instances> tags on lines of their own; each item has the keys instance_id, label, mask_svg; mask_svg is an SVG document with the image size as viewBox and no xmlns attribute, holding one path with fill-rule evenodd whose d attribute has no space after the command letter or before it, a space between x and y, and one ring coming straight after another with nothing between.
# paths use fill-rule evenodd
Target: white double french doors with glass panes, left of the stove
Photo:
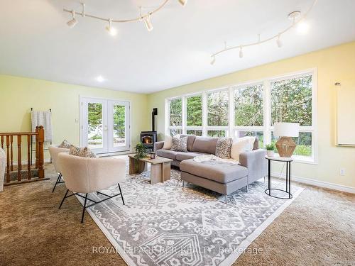
<instances>
[{"instance_id":1,"label":"white double french doors with glass panes, left of the stove","mask_svg":"<svg viewBox=\"0 0 355 266\"><path fill-rule=\"evenodd\" d=\"M129 101L83 97L81 141L94 153L130 150Z\"/></svg>"}]
</instances>

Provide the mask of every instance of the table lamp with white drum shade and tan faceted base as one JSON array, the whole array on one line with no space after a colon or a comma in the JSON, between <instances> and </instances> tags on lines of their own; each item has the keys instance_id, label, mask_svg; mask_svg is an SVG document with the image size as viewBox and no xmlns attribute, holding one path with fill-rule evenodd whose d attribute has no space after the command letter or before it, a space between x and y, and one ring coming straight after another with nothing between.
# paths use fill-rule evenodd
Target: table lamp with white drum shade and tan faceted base
<instances>
[{"instance_id":1,"label":"table lamp with white drum shade and tan faceted base","mask_svg":"<svg viewBox=\"0 0 355 266\"><path fill-rule=\"evenodd\" d=\"M278 122L273 125L273 135L280 137L276 143L280 157L291 157L296 148L292 137L298 137L300 123Z\"/></svg>"}]
</instances>

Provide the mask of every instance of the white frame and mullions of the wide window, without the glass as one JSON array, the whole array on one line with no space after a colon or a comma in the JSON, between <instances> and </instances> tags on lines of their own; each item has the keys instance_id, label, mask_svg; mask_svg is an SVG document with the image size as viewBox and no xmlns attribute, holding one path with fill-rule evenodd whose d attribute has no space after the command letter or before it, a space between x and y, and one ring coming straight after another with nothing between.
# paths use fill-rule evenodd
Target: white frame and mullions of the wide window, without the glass
<instances>
[{"instance_id":1,"label":"white frame and mullions of the wide window, without the glass","mask_svg":"<svg viewBox=\"0 0 355 266\"><path fill-rule=\"evenodd\" d=\"M165 134L170 135L170 130L182 130L183 134L186 134L187 130L201 130L202 135L206 136L207 131L226 131L226 136L234 138L236 131L257 131L263 132L264 144L271 143L271 132L273 126L271 126L271 82L280 81L283 79L293 79L299 77L305 77L312 75L312 126L300 126L300 132L312 133L312 157L305 157L300 155L293 155L295 162L318 164L318 135L317 135L317 68L308 70L302 70L299 72L292 72L288 74L278 75L275 77L268 77L265 79L258 79L251 82L242 82L239 84L231 84L225 87L219 87L217 89L208 89L200 92L193 92L191 94L183 94L181 96L174 96L165 99ZM253 86L257 84L263 84L263 126L234 126L234 90ZM229 91L229 126L208 126L207 125L207 94L219 91ZM187 113L186 113L186 99L190 96L202 95L202 126L186 126ZM170 126L170 106L169 102L174 99L182 99L182 126Z\"/></svg>"}]
</instances>

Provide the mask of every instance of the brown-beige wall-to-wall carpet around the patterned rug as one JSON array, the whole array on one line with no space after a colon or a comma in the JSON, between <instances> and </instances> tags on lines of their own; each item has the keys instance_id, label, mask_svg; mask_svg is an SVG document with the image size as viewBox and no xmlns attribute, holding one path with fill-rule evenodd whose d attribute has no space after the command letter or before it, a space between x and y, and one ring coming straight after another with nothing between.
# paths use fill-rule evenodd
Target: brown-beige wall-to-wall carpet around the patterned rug
<instances>
[{"instance_id":1,"label":"brown-beige wall-to-wall carpet around the patterned rug","mask_svg":"<svg viewBox=\"0 0 355 266\"><path fill-rule=\"evenodd\" d=\"M58 209L65 193L51 180L5 187L0 193L0 265L125 265L75 197ZM355 262L355 195L317 187L305 191L266 228L235 265L352 265Z\"/></svg>"}]
</instances>

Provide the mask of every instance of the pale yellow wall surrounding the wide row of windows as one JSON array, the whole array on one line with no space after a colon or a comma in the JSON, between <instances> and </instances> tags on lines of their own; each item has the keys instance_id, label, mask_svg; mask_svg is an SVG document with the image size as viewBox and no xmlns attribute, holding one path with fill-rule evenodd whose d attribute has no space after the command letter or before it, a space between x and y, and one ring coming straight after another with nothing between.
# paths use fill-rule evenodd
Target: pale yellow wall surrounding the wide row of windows
<instances>
[{"instance_id":1,"label":"pale yellow wall surrounding the wide row of windows","mask_svg":"<svg viewBox=\"0 0 355 266\"><path fill-rule=\"evenodd\" d=\"M248 58L246 57L243 60L248 60ZM355 148L335 146L334 89L334 82L341 82L342 86L355 89L355 42L150 94L148 96L148 110L158 107L158 132L161 140L165 132L164 101L166 98L314 67L317 68L318 74L317 139L319 163L318 165L295 163L293 175L346 187L355 187ZM349 99L349 101L354 103L355 108L355 99ZM349 121L349 123L354 123L354 121ZM346 169L345 176L339 175L340 167ZM280 170L277 167L274 167L274 169Z\"/></svg>"}]
</instances>

